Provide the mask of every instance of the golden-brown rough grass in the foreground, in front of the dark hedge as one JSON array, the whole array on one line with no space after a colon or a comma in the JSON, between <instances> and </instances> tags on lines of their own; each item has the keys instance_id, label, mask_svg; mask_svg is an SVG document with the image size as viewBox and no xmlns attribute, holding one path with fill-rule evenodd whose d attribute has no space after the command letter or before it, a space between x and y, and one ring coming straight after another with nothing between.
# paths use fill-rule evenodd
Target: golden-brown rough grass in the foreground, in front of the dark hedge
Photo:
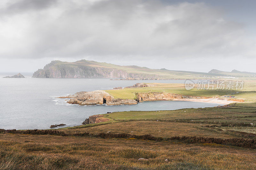
<instances>
[{"instance_id":1,"label":"golden-brown rough grass in the foreground, in front of the dark hedge","mask_svg":"<svg viewBox=\"0 0 256 170\"><path fill-rule=\"evenodd\" d=\"M0 169L256 169L255 159L217 144L0 134Z\"/></svg>"}]
</instances>

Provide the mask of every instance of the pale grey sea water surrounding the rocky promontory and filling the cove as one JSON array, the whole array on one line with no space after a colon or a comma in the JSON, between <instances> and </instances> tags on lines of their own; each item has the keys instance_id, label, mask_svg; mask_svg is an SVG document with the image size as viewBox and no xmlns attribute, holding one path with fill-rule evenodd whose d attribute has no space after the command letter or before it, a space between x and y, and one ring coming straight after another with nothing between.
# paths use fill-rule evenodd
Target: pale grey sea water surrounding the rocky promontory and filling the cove
<instances>
[{"instance_id":1,"label":"pale grey sea water surrounding the rocky promontory and filling the cove","mask_svg":"<svg viewBox=\"0 0 256 170\"><path fill-rule=\"evenodd\" d=\"M29 77L28 75L24 76ZM184 83L185 80L111 81L107 78L0 78L0 129L49 129L52 124L62 123L67 124L66 126L75 126L82 124L85 118L91 115L113 111L175 110L219 105L186 101L154 101L136 105L78 106L66 103L67 99L56 98L79 91L126 87L138 82Z\"/></svg>"}]
</instances>

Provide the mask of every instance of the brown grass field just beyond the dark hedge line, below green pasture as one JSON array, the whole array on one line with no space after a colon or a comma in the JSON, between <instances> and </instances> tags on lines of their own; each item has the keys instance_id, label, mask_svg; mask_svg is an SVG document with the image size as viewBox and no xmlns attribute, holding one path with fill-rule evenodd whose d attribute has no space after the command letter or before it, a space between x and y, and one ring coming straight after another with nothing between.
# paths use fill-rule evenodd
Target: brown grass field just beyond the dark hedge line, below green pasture
<instances>
[{"instance_id":1,"label":"brown grass field just beyond the dark hedge line, below green pasture","mask_svg":"<svg viewBox=\"0 0 256 170\"><path fill-rule=\"evenodd\" d=\"M173 137L173 136L202 136L212 138L234 138L234 136L221 134L214 131L204 131L195 126L205 126L211 124L192 124L178 122L160 122L160 121L133 121L106 124L96 127L83 129L65 129L60 130L65 133L130 133L135 135L151 134L155 137Z\"/></svg>"}]
</instances>

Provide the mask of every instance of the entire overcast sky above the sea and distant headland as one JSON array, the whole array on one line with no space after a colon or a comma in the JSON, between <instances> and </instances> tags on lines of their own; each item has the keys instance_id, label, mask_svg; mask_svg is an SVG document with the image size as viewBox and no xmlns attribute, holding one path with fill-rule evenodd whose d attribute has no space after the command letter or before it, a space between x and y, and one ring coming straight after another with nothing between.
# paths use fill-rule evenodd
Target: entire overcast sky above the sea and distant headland
<instances>
[{"instance_id":1,"label":"entire overcast sky above the sea and distant headland","mask_svg":"<svg viewBox=\"0 0 256 170\"><path fill-rule=\"evenodd\" d=\"M52 60L256 72L254 0L1 0L0 72Z\"/></svg>"}]
</instances>

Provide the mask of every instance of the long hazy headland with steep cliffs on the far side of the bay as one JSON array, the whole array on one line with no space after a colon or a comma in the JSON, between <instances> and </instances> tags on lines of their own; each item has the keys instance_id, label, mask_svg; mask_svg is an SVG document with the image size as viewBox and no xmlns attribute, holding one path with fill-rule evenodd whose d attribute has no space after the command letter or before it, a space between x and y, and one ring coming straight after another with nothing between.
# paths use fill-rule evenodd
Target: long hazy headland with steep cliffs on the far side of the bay
<instances>
[{"instance_id":1,"label":"long hazy headland with steep cliffs on the far side of the bay","mask_svg":"<svg viewBox=\"0 0 256 170\"><path fill-rule=\"evenodd\" d=\"M235 73L231 73L235 74ZM54 60L38 69L33 77L36 78L148 78L148 79L205 79L223 76L219 70L209 73L151 69L139 66L119 66L115 64L79 60L64 62Z\"/></svg>"}]
</instances>

